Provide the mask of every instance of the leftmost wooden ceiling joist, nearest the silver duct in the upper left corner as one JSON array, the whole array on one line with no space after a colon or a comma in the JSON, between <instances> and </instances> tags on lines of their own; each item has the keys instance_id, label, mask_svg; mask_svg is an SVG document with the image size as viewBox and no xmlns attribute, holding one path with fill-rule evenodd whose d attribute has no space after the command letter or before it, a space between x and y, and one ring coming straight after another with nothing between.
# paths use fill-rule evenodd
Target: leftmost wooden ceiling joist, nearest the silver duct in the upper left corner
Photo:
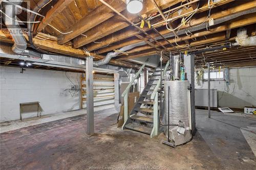
<instances>
[{"instance_id":1,"label":"leftmost wooden ceiling joist, nearest the silver duct in the upper left corner","mask_svg":"<svg viewBox=\"0 0 256 170\"><path fill-rule=\"evenodd\" d=\"M73 0L59 0L46 14L45 18L35 27L35 35L42 31L49 23L53 21Z\"/></svg>"}]
</instances>

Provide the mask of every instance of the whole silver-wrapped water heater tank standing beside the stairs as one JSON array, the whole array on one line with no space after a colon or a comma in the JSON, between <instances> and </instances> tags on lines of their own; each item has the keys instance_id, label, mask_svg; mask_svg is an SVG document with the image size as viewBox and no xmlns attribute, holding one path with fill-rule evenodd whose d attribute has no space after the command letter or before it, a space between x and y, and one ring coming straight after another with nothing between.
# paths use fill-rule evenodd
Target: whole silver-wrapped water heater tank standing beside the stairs
<instances>
[{"instance_id":1,"label":"whole silver-wrapped water heater tank standing beside the stairs","mask_svg":"<svg viewBox=\"0 0 256 170\"><path fill-rule=\"evenodd\" d=\"M168 87L170 89L168 96ZM166 81L164 82L164 115L163 123L168 124L168 107L169 107L169 125L178 125L184 123L184 133L179 133L178 126L169 126L170 138L175 141L176 145L185 143L191 139L190 132L190 84L188 81ZM169 100L168 100L169 98ZM169 101L169 102L168 102ZM167 136L167 126L165 126Z\"/></svg>"}]
</instances>

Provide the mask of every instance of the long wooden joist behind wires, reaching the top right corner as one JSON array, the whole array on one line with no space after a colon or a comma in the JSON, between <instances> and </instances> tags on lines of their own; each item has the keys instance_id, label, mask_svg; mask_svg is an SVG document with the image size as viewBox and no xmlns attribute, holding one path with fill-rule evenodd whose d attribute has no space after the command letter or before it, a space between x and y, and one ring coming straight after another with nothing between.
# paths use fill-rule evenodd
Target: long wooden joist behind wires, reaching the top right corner
<instances>
[{"instance_id":1,"label":"long wooden joist behind wires, reaching the top right corner","mask_svg":"<svg viewBox=\"0 0 256 170\"><path fill-rule=\"evenodd\" d=\"M219 18L222 18L222 17L230 15L230 11L232 13L238 13L238 12L249 10L249 9L252 9L252 8L255 8L255 2L252 2L252 1L246 1L246 2L242 2L242 3L241 2L235 2L232 5L230 5L227 10L224 10L222 12L220 12L218 10L216 10L216 12L214 12L212 10L211 18L219 19ZM193 20L193 22L190 23L191 27L195 27L195 26L199 25L200 23L202 23L205 20L205 14L206 13L200 15L199 17L196 17L196 19L192 18L191 20ZM181 30L182 29L187 29L189 27L190 26L187 24L187 25L181 27ZM148 30L149 29L147 29L147 31ZM169 31L167 29L161 30L159 32L162 35L165 35L165 34L169 33ZM99 41L101 41L100 44L96 44L96 43L88 44L87 45L87 50L88 51L92 51L92 50L95 50L96 48L99 48L99 47L111 44L108 47L101 48L98 51L98 53L101 54L101 53L105 53L105 52L108 52L108 51L112 51L113 49L122 47L122 43L118 43L119 45L112 44L112 43L120 41L120 40L123 40L123 39L131 37L131 36L134 36L136 34L138 34L138 32L136 32L135 30L127 29L127 30L124 30L122 32L118 32L117 34L113 34L113 35L104 37L102 39L99 39ZM158 36L156 33L150 33L150 35L152 37L157 37ZM140 41L138 40L137 42L140 42ZM115 47L112 48L112 46L115 46Z\"/></svg>"}]
</instances>

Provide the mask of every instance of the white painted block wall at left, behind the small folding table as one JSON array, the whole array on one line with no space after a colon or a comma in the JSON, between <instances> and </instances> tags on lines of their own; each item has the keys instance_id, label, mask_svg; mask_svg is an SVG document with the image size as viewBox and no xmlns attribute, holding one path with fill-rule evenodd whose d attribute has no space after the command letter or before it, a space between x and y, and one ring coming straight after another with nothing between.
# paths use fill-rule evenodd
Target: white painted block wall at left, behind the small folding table
<instances>
[{"instance_id":1,"label":"white painted block wall at left, behind the small folding table","mask_svg":"<svg viewBox=\"0 0 256 170\"><path fill-rule=\"evenodd\" d=\"M80 75L67 72L75 85L80 84ZM79 109L80 90L71 96L71 85L63 71L26 68L21 74L20 68L0 66L0 122L19 119L19 103L25 102L40 102L42 115ZM114 99L98 101L95 106L110 103Z\"/></svg>"}]
</instances>

